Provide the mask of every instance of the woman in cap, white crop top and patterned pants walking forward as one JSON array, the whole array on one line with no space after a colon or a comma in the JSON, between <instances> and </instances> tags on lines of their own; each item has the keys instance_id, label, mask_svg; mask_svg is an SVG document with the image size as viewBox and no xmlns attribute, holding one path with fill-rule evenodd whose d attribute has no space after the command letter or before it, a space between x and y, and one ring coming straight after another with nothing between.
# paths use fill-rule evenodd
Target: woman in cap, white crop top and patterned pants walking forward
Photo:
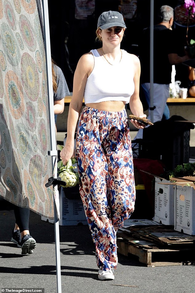
<instances>
[{"instance_id":1,"label":"woman in cap, white crop top and patterned pants walking forward","mask_svg":"<svg viewBox=\"0 0 195 293\"><path fill-rule=\"evenodd\" d=\"M146 117L139 98L140 62L120 49L125 31L122 14L103 12L97 22L99 49L84 54L74 74L64 164L75 156L80 195L96 248L100 280L114 279L117 267L116 232L134 210L135 183L131 138L125 104ZM83 97L85 108L82 110ZM143 128L137 121L132 123Z\"/></svg>"}]
</instances>

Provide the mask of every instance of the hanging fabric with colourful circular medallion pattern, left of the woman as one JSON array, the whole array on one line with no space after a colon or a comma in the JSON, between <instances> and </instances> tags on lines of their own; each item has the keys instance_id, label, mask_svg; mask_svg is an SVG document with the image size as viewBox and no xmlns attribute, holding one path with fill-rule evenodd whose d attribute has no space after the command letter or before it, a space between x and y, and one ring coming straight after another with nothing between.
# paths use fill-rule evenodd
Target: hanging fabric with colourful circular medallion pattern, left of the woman
<instances>
[{"instance_id":1,"label":"hanging fabric with colourful circular medallion pattern, left of the woman","mask_svg":"<svg viewBox=\"0 0 195 293\"><path fill-rule=\"evenodd\" d=\"M0 195L52 218L45 50L36 0L0 0Z\"/></svg>"}]
</instances>

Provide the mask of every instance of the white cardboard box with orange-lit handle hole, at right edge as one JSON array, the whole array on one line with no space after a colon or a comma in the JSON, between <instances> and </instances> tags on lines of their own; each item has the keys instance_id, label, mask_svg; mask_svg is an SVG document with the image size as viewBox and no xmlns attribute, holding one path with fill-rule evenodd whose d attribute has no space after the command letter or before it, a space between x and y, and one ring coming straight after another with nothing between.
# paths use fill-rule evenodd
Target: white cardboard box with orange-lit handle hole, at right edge
<instances>
[{"instance_id":1,"label":"white cardboard box with orange-lit handle hole, at right edge","mask_svg":"<svg viewBox=\"0 0 195 293\"><path fill-rule=\"evenodd\" d=\"M195 186L176 185L174 229L195 235Z\"/></svg>"}]
</instances>

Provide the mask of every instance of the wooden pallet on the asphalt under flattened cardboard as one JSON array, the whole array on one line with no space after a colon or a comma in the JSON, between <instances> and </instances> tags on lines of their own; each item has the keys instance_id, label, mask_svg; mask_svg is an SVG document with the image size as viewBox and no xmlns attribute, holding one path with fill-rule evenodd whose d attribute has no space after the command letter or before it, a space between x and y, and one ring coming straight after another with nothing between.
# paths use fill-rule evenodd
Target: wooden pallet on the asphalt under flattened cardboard
<instances>
[{"instance_id":1,"label":"wooden pallet on the asphalt under flattened cardboard","mask_svg":"<svg viewBox=\"0 0 195 293\"><path fill-rule=\"evenodd\" d=\"M194 245L178 246L165 249L152 242L137 240L132 237L117 237L117 251L125 256L137 256L140 263L147 267L188 265L195 262ZM165 261L166 260L166 261Z\"/></svg>"}]
</instances>

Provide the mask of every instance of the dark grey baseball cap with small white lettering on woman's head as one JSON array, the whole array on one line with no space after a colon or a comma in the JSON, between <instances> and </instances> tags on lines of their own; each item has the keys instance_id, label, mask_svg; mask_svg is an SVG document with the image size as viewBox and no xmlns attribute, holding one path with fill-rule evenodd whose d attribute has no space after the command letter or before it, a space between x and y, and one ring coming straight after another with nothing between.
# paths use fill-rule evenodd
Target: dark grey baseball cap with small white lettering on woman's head
<instances>
[{"instance_id":1,"label":"dark grey baseball cap with small white lettering on woman's head","mask_svg":"<svg viewBox=\"0 0 195 293\"><path fill-rule=\"evenodd\" d=\"M117 11L105 11L103 12L97 21L97 28L100 27L101 30L106 30L111 26L121 26L126 29L125 22L121 13Z\"/></svg>"}]
</instances>

